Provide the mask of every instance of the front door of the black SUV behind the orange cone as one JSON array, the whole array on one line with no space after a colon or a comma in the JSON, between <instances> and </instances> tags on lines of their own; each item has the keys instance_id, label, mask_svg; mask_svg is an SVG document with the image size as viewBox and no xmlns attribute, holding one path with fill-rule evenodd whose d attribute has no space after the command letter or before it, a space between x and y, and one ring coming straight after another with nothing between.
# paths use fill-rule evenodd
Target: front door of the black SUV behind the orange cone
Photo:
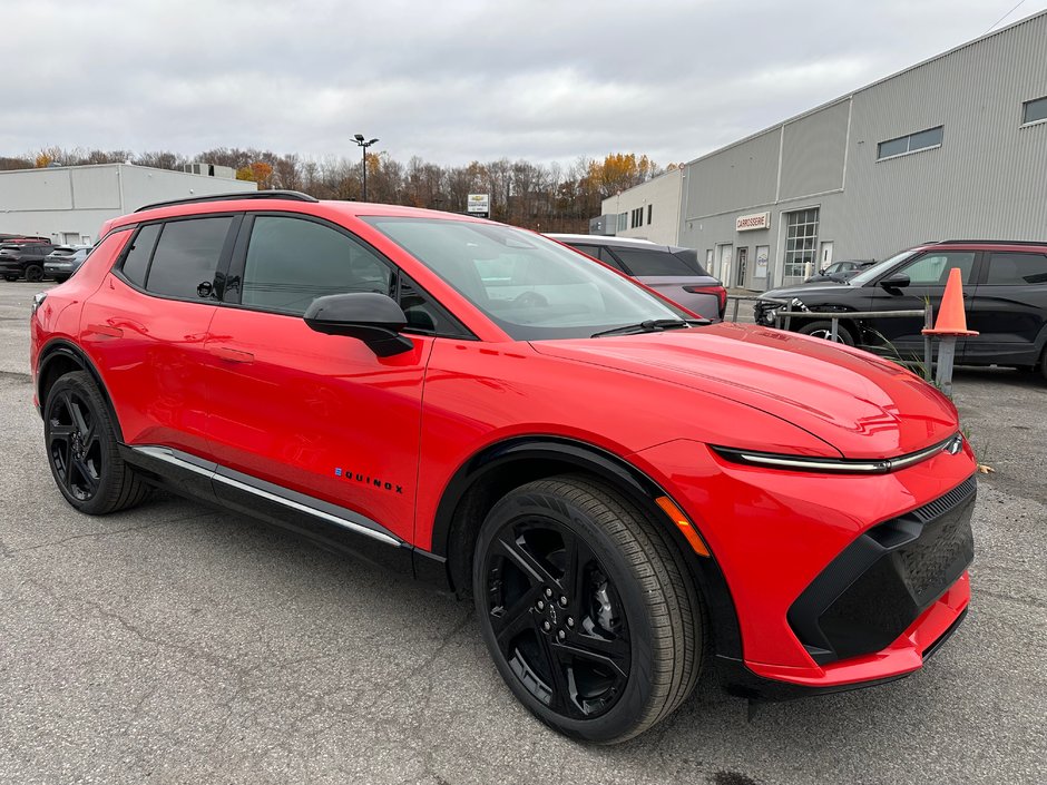
<instances>
[{"instance_id":1,"label":"front door of the black SUV behind the orange cone","mask_svg":"<svg viewBox=\"0 0 1047 785\"><path fill-rule=\"evenodd\" d=\"M941 306L941 296L946 291L946 281L949 271L953 267L960 269L963 282L963 296L969 301L973 293L971 285L975 263L978 253L975 251L931 249L920 254L913 259L902 263L899 267L885 273L875 284L870 284L864 311L923 311L924 303L930 302L937 314ZM891 275L904 274L909 276L909 285L901 288L888 288L880 282ZM867 330L874 331L871 343L878 343L878 337L889 341L897 353L908 360L913 356L923 356L923 316L900 316L890 318L873 318L865 321ZM965 340L957 341L957 355L963 351Z\"/></svg>"}]
</instances>

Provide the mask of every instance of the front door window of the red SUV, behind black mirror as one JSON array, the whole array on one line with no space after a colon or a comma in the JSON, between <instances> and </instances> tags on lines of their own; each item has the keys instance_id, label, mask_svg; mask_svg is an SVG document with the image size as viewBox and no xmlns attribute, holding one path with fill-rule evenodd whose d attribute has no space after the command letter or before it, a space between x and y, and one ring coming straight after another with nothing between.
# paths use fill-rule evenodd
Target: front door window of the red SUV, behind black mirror
<instances>
[{"instance_id":1,"label":"front door window of the red SUV, behind black mirror","mask_svg":"<svg viewBox=\"0 0 1047 785\"><path fill-rule=\"evenodd\" d=\"M301 315L316 297L392 294L392 269L361 243L322 224L262 215L254 219L241 302Z\"/></svg>"}]
</instances>

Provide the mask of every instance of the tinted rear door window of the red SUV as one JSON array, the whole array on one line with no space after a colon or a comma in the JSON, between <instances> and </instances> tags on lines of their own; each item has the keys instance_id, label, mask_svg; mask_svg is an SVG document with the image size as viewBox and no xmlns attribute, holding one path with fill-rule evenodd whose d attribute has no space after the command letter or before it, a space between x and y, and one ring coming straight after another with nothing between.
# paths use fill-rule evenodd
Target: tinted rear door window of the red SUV
<instances>
[{"instance_id":1,"label":"tinted rear door window of the red SUV","mask_svg":"<svg viewBox=\"0 0 1047 785\"><path fill-rule=\"evenodd\" d=\"M164 225L146 276L146 288L197 300L197 286L213 284L233 216L173 220Z\"/></svg>"}]
</instances>

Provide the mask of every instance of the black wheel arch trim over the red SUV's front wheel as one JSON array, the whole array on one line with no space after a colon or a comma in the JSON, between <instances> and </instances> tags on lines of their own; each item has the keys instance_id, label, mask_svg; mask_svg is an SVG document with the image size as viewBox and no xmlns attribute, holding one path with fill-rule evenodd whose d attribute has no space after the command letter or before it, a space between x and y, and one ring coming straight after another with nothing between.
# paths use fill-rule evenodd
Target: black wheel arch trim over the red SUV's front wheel
<instances>
[{"instance_id":1,"label":"black wheel arch trim over the red SUV's front wheel","mask_svg":"<svg viewBox=\"0 0 1047 785\"><path fill-rule=\"evenodd\" d=\"M715 558L698 557L655 500L666 493L657 482L618 455L562 436L516 436L491 444L467 460L447 484L437 508L432 552L447 560L447 578L460 597L471 592L472 558L480 526L495 502L513 488L555 474L587 474L625 495L662 523L702 590L715 651L741 657L737 614Z\"/></svg>"}]
</instances>

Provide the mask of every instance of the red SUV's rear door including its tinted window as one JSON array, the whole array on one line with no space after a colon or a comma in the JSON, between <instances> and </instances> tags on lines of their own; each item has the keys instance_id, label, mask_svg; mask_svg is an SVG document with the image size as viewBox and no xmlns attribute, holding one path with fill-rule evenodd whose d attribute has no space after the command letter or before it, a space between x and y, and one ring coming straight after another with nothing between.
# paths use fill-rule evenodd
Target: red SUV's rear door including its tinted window
<instances>
[{"instance_id":1,"label":"red SUV's rear door including its tinted window","mask_svg":"<svg viewBox=\"0 0 1047 785\"><path fill-rule=\"evenodd\" d=\"M85 304L80 343L124 440L207 458L204 344L237 215L146 224Z\"/></svg>"}]
</instances>

